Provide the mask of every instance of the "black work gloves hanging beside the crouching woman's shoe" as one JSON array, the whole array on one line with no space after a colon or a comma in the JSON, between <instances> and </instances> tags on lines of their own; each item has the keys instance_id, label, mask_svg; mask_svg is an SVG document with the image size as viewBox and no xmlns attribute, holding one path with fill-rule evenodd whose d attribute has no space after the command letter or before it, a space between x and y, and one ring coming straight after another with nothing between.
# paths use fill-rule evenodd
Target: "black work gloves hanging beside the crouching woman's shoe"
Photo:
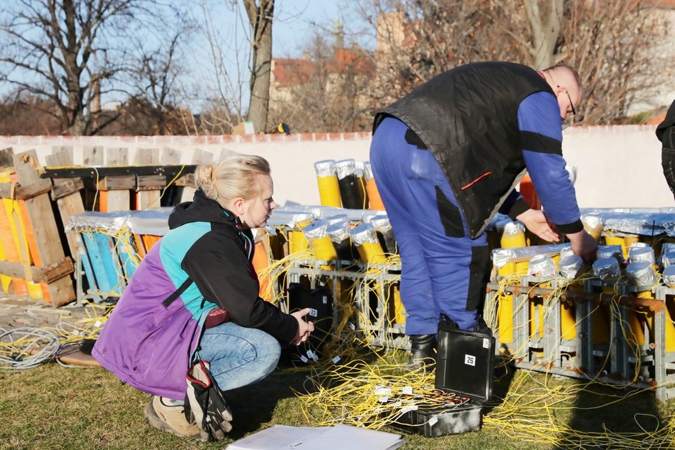
<instances>
[{"instance_id":1,"label":"black work gloves hanging beside the crouching woman's shoe","mask_svg":"<svg viewBox=\"0 0 675 450\"><path fill-rule=\"evenodd\" d=\"M186 376L185 418L199 427L202 442L222 440L232 429L232 412L211 375L208 362L195 362Z\"/></svg>"}]
</instances>

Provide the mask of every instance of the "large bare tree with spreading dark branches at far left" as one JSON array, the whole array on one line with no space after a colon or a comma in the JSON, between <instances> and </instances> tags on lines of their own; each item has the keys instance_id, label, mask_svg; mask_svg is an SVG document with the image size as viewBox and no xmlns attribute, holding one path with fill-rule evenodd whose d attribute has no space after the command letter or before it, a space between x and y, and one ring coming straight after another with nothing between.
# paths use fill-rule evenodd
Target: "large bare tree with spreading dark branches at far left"
<instances>
[{"instance_id":1,"label":"large bare tree with spreading dark branches at far left","mask_svg":"<svg viewBox=\"0 0 675 450\"><path fill-rule=\"evenodd\" d=\"M59 119L63 133L91 135L114 121L115 115L97 121L92 101L99 93L128 97L112 81L135 59L130 37L157 21L162 5L154 0L17 0L3 6L0 81L55 104L56 111L46 112Z\"/></svg>"}]
</instances>

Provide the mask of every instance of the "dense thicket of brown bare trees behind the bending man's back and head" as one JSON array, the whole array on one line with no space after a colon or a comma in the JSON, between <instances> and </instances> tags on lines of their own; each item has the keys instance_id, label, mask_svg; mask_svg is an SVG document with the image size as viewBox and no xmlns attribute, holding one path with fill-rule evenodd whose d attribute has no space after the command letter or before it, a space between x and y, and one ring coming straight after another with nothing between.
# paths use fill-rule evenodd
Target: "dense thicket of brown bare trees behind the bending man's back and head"
<instances>
[{"instance_id":1,"label":"dense thicket of brown bare trees behind the bending man's back and head","mask_svg":"<svg viewBox=\"0 0 675 450\"><path fill-rule=\"evenodd\" d=\"M667 73L664 61L649 51L663 20L645 3L371 0L362 16L378 37L376 94L386 104L472 61L516 61L536 69L564 62L583 81L585 101L575 121L625 120L631 105Z\"/></svg>"}]
</instances>

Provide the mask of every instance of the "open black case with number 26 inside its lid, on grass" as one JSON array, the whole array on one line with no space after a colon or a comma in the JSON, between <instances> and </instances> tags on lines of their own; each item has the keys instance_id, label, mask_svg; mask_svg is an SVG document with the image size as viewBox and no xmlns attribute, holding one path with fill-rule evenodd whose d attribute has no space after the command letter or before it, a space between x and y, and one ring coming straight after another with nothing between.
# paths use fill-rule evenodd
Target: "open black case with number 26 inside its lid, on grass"
<instances>
[{"instance_id":1,"label":"open black case with number 26 inside its lid, on grass","mask_svg":"<svg viewBox=\"0 0 675 450\"><path fill-rule=\"evenodd\" d=\"M490 329L464 331L452 322L438 327L435 387L464 399L462 404L407 411L392 427L427 438L478 431L492 395L494 338Z\"/></svg>"}]
</instances>

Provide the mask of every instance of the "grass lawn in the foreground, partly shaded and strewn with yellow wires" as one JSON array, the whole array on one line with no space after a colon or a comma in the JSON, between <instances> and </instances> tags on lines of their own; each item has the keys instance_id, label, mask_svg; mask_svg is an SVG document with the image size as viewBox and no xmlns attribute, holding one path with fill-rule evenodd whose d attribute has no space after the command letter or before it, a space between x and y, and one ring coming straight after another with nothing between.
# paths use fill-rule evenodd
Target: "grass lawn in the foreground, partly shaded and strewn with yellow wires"
<instances>
[{"instance_id":1,"label":"grass lawn in the foreground, partly shaded and strewn with yellow wires","mask_svg":"<svg viewBox=\"0 0 675 450\"><path fill-rule=\"evenodd\" d=\"M202 443L146 424L148 395L122 385L104 369L50 363L0 374L0 449L222 449L272 424L316 424L291 391L304 391L307 375L277 371L259 384L227 393L234 429L226 441ZM402 448L674 447L675 402L657 404L649 392L527 371L508 371L493 389L496 400L480 431L442 438L407 435Z\"/></svg>"}]
</instances>

